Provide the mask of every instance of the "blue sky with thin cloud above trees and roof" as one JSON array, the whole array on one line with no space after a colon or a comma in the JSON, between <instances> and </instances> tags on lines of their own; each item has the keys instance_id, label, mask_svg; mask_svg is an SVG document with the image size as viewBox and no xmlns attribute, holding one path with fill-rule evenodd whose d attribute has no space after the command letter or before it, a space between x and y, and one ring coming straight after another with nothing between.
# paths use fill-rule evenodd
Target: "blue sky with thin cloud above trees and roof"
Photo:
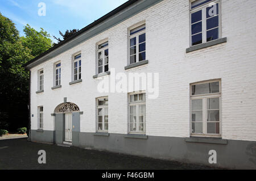
<instances>
[{"instance_id":1,"label":"blue sky with thin cloud above trees and roof","mask_svg":"<svg viewBox=\"0 0 256 181\"><path fill-rule=\"evenodd\" d=\"M114 10L127 0L0 0L0 12L13 20L20 35L30 24L35 30L44 28L51 36L60 37L59 30L79 29ZM46 16L39 16L39 3L46 4ZM53 38L52 38L53 40Z\"/></svg>"}]
</instances>

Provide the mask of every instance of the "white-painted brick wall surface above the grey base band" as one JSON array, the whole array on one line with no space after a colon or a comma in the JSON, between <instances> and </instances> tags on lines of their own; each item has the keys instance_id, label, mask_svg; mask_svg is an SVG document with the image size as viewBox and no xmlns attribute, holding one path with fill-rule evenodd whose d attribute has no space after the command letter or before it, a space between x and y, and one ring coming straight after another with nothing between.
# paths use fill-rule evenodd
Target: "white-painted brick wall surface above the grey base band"
<instances>
[{"instance_id":1,"label":"white-painted brick wall surface above the grey base band","mask_svg":"<svg viewBox=\"0 0 256 181\"><path fill-rule=\"evenodd\" d=\"M189 47L189 1L165 0L115 27L31 69L32 129L37 129L37 107L44 106L44 129L53 130L55 107L76 103L81 132L96 131L95 98L109 96L109 133L127 133L127 94L97 92L96 43L109 39L109 66L116 73L159 73L159 98L146 100L146 134L189 137L189 83L221 78L222 137L256 141L256 3L222 0L222 37L227 43L185 53ZM146 21L148 65L125 71L127 28ZM82 53L82 83L71 82L72 54ZM61 60L61 89L53 86L53 64ZM44 92L36 94L38 70L44 69Z\"/></svg>"}]
</instances>

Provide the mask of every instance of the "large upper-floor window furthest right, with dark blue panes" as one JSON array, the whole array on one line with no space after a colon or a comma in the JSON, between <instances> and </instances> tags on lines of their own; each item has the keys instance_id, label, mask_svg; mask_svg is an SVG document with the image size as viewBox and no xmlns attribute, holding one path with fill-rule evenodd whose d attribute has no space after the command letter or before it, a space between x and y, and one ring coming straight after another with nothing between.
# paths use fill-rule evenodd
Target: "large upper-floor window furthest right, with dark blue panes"
<instances>
[{"instance_id":1,"label":"large upper-floor window furthest right, with dark blue panes","mask_svg":"<svg viewBox=\"0 0 256 181\"><path fill-rule=\"evenodd\" d=\"M197 0L191 3L191 45L220 38L220 1Z\"/></svg>"}]
</instances>

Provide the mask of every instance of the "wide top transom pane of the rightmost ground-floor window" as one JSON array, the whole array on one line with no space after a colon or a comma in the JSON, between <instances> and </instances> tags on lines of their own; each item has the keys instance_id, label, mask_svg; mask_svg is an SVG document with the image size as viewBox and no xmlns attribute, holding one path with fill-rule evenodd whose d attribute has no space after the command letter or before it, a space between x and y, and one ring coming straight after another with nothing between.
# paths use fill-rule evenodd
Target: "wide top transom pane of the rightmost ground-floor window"
<instances>
[{"instance_id":1,"label":"wide top transom pane of the rightmost ground-floor window","mask_svg":"<svg viewBox=\"0 0 256 181\"><path fill-rule=\"evenodd\" d=\"M192 86L192 95L210 94L220 92L219 82L202 83Z\"/></svg>"}]
</instances>

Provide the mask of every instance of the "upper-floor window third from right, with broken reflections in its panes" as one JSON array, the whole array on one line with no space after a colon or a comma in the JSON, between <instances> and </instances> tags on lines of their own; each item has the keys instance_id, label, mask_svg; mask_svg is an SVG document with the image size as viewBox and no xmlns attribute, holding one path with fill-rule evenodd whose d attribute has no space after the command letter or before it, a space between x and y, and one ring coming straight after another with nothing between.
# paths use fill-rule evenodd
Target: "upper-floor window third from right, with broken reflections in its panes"
<instances>
[{"instance_id":1,"label":"upper-floor window third from right, with broken reflections in its panes","mask_svg":"<svg viewBox=\"0 0 256 181\"><path fill-rule=\"evenodd\" d=\"M98 74L109 71L109 43L98 45Z\"/></svg>"}]
</instances>

